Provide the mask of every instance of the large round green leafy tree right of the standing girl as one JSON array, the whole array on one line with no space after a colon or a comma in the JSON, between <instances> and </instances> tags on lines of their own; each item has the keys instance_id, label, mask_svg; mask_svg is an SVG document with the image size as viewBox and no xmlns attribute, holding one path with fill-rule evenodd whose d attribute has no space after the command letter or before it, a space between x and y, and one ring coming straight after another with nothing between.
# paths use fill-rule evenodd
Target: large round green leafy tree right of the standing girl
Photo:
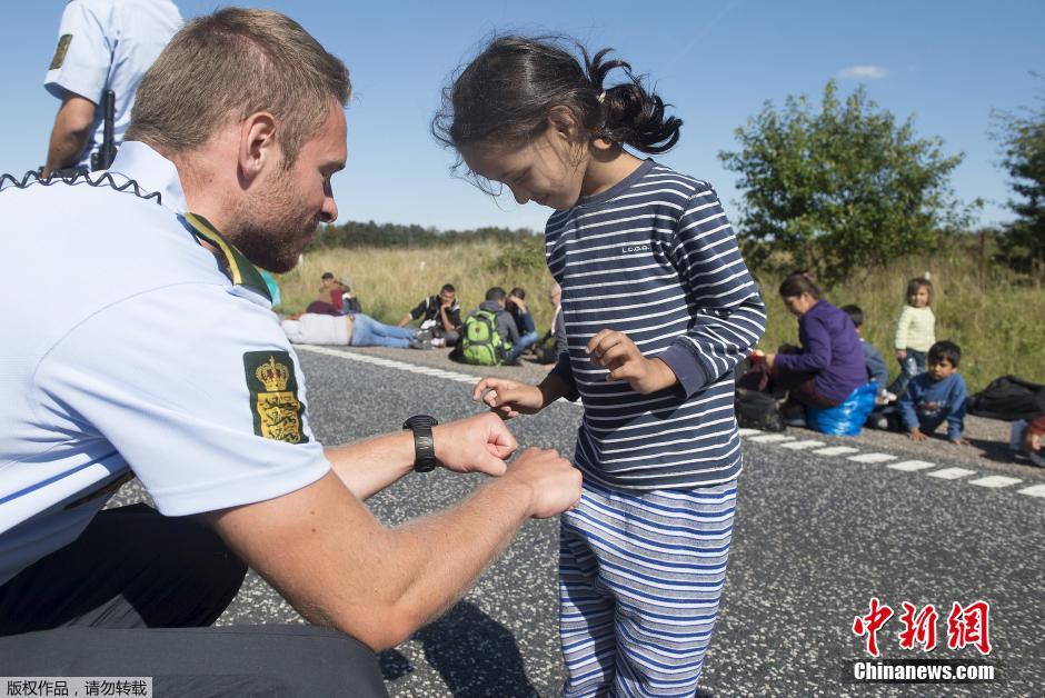
<instances>
[{"instance_id":1,"label":"large round green leafy tree right of the standing girl","mask_svg":"<svg viewBox=\"0 0 1045 698\"><path fill-rule=\"evenodd\" d=\"M952 170L938 138L915 136L864 88L839 99L834 81L819 109L789 96L766 102L736 130L740 150L720 152L739 172L745 256L756 268L803 267L828 286L858 270L932 247L967 225L953 200Z\"/></svg>"}]
</instances>

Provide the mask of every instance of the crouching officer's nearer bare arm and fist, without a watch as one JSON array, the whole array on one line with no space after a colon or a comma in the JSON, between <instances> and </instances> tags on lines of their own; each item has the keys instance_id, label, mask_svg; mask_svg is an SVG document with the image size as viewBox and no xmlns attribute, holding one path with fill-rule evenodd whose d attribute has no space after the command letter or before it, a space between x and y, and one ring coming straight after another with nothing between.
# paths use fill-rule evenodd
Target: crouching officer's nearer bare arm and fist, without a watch
<instances>
[{"instance_id":1,"label":"crouching officer's nearer bare arm and fist, without a watch","mask_svg":"<svg viewBox=\"0 0 1045 698\"><path fill-rule=\"evenodd\" d=\"M334 472L208 518L302 616L380 650L449 608L527 517L554 516L579 493L579 471L530 449L458 507L397 528Z\"/></svg>"}]
</instances>

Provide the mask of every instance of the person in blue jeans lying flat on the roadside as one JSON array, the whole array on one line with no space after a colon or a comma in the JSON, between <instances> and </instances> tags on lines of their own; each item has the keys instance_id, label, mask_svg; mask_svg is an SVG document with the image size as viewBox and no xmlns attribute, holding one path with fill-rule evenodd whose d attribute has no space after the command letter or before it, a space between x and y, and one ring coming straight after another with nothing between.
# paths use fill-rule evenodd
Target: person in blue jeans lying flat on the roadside
<instances>
[{"instance_id":1,"label":"person in blue jeans lying flat on the roadside","mask_svg":"<svg viewBox=\"0 0 1045 698\"><path fill-rule=\"evenodd\" d=\"M336 345L339 347L395 347L427 349L417 330L378 322L368 315L327 315L301 312L282 321L287 339L296 345Z\"/></svg>"}]
</instances>

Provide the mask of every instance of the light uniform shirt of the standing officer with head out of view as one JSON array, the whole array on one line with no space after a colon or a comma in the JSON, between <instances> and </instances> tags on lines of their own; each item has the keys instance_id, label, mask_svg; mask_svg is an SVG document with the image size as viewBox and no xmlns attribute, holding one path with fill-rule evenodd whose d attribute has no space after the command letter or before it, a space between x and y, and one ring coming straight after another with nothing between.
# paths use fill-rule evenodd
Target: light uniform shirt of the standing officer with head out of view
<instances>
[{"instance_id":1,"label":"light uniform shirt of the standing officer with head out of view","mask_svg":"<svg viewBox=\"0 0 1045 698\"><path fill-rule=\"evenodd\" d=\"M106 90L116 93L113 140L123 141L138 83L181 24L170 0L70 0L66 6L43 87L58 99L72 92L97 106L93 136L78 164L89 167L101 146Z\"/></svg>"}]
</instances>

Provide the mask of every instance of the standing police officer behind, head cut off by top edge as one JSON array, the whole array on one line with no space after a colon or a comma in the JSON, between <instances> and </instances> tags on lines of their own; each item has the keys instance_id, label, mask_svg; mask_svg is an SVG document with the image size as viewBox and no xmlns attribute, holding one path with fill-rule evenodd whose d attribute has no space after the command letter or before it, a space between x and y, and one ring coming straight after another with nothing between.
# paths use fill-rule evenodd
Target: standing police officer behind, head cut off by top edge
<instances>
[{"instance_id":1,"label":"standing police officer behind, head cut off by top edge","mask_svg":"<svg viewBox=\"0 0 1045 698\"><path fill-rule=\"evenodd\" d=\"M108 90L113 93L113 144L122 142L138 83L181 23L170 0L70 0L43 81L61 100L44 176L91 169L91 156L103 140Z\"/></svg>"}]
</instances>

